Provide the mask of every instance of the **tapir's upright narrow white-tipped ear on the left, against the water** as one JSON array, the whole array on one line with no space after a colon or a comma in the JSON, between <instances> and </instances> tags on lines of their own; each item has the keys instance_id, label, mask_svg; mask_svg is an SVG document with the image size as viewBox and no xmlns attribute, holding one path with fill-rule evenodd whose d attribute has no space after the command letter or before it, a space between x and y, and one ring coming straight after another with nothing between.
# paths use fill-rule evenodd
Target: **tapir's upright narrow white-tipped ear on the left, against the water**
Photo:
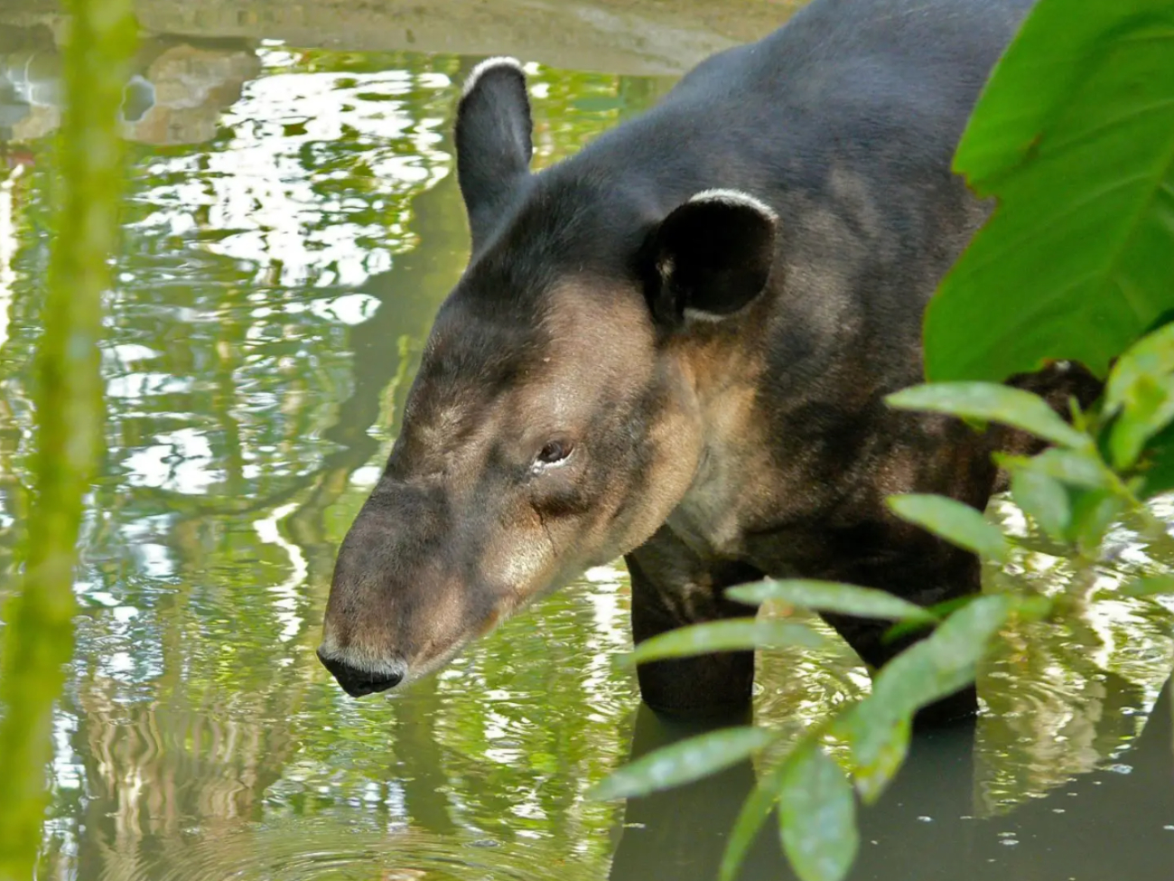
<instances>
[{"instance_id":1,"label":"tapir's upright narrow white-tipped ear on the left, against the water","mask_svg":"<svg viewBox=\"0 0 1174 881\"><path fill-rule=\"evenodd\" d=\"M493 229L514 188L529 174L526 74L512 58L483 61L465 81L457 108L457 180L465 197L473 248Z\"/></svg>"}]
</instances>

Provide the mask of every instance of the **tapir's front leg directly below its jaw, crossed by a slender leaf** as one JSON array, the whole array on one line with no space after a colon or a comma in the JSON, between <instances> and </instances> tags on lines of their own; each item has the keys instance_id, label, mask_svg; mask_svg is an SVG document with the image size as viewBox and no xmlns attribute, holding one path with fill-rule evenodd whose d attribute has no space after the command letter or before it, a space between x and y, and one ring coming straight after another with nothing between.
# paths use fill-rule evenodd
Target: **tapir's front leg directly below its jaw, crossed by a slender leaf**
<instances>
[{"instance_id":1,"label":"tapir's front leg directly below its jaw, crossed by a slender leaf","mask_svg":"<svg viewBox=\"0 0 1174 881\"><path fill-rule=\"evenodd\" d=\"M761 578L750 566L707 564L667 527L625 557L632 576L632 634L639 644L688 624L753 616L722 596ZM754 685L754 652L722 652L642 664L640 694L660 713L722 717L743 712Z\"/></svg>"}]
</instances>

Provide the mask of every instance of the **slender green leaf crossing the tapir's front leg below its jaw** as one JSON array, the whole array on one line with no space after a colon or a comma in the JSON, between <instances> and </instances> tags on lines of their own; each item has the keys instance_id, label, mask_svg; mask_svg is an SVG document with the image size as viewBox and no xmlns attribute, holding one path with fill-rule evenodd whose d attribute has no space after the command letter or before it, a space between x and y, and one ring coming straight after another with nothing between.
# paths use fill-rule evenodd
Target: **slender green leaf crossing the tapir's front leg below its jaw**
<instances>
[{"instance_id":1,"label":"slender green leaf crossing the tapir's front leg below its jaw","mask_svg":"<svg viewBox=\"0 0 1174 881\"><path fill-rule=\"evenodd\" d=\"M643 664L713 652L782 648L791 645L818 648L824 641L823 637L810 627L794 621L728 618L661 633L637 645L634 652L625 655L623 661Z\"/></svg>"}]
</instances>

